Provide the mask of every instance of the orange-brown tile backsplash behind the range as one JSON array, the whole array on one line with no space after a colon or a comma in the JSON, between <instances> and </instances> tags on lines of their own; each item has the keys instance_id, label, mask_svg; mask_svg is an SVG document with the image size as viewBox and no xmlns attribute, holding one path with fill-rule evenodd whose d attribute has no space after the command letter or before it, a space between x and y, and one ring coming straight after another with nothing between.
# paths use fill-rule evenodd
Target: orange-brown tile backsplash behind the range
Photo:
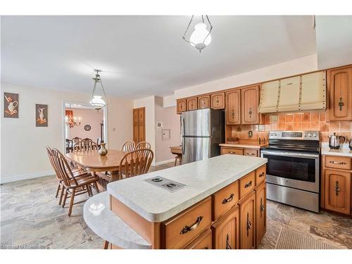
<instances>
[{"instance_id":1,"label":"orange-brown tile backsplash behind the range","mask_svg":"<svg viewBox=\"0 0 352 264\"><path fill-rule=\"evenodd\" d=\"M328 142L327 136L334 132L348 139L352 137L352 122L327 122L325 112L265 114L262 120L264 125L232 125L231 137L268 139L270 130L319 130L322 142ZM249 137L249 130L253 131L253 137Z\"/></svg>"}]
</instances>

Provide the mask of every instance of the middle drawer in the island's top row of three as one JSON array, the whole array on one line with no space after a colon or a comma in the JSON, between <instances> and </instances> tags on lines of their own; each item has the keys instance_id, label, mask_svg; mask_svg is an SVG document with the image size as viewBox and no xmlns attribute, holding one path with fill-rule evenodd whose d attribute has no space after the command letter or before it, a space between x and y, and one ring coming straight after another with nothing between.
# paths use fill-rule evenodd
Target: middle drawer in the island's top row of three
<instances>
[{"instance_id":1,"label":"middle drawer in the island's top row of three","mask_svg":"<svg viewBox=\"0 0 352 264\"><path fill-rule=\"evenodd\" d=\"M218 220L221 215L235 206L237 201L239 201L239 181L233 182L213 194L212 220Z\"/></svg>"}]
</instances>

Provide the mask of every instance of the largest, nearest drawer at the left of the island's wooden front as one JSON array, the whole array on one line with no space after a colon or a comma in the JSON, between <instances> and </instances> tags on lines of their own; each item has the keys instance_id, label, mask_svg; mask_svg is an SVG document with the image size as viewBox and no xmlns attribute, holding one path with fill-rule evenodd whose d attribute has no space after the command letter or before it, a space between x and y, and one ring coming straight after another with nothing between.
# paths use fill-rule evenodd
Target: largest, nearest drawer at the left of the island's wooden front
<instances>
[{"instance_id":1,"label":"largest, nearest drawer at the left of the island's wooden front","mask_svg":"<svg viewBox=\"0 0 352 264\"><path fill-rule=\"evenodd\" d=\"M211 197L161 224L162 247L182 249L211 223Z\"/></svg>"}]
</instances>

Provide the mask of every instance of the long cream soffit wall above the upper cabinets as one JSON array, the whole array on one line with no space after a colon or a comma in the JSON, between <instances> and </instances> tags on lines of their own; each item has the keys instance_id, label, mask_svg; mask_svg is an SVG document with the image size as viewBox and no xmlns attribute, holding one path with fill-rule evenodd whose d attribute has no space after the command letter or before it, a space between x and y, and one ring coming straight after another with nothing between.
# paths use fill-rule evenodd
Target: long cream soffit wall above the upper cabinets
<instances>
[{"instance_id":1,"label":"long cream soffit wall above the upper cabinets","mask_svg":"<svg viewBox=\"0 0 352 264\"><path fill-rule=\"evenodd\" d=\"M241 87L247 84L254 84L314 70L318 70L318 58L316 54L298 58L293 61L287 61L285 63L275 64L266 68L252 70L248 73L232 75L220 80L213 80L211 82L204 82L191 87L177 89L175 91L175 99L206 94L208 92L215 92L222 89L230 89L232 87Z\"/></svg>"}]
</instances>

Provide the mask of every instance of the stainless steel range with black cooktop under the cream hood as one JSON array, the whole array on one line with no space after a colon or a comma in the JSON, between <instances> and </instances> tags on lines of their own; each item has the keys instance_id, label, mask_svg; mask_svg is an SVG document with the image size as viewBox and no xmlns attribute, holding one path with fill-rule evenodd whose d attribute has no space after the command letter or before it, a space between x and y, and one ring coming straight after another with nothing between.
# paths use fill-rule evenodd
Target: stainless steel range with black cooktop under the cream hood
<instances>
[{"instance_id":1,"label":"stainless steel range with black cooktop under the cream hood","mask_svg":"<svg viewBox=\"0 0 352 264\"><path fill-rule=\"evenodd\" d=\"M268 199L319 212L318 131L270 131L261 156L268 158Z\"/></svg>"}]
</instances>

